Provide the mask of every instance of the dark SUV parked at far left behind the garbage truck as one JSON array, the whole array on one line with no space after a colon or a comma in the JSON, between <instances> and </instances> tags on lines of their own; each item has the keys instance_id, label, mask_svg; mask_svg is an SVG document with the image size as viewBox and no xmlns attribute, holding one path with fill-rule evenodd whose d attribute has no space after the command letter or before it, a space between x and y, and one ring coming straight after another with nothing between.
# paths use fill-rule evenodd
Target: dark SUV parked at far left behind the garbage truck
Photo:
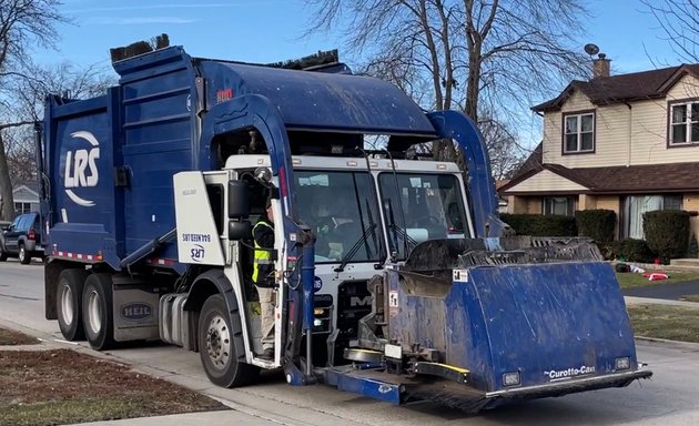
<instances>
[{"instance_id":1,"label":"dark SUV parked at far left behind the garbage truck","mask_svg":"<svg viewBox=\"0 0 699 426\"><path fill-rule=\"evenodd\" d=\"M8 257L19 257L24 265L31 262L32 257L43 258L39 213L20 214L0 234L0 262Z\"/></svg>"}]
</instances>

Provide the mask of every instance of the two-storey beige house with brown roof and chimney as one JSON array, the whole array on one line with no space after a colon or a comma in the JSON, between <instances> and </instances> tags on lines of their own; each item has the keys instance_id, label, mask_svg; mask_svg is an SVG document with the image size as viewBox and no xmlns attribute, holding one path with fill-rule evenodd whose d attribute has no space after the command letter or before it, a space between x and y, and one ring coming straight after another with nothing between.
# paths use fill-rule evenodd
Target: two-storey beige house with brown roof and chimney
<instances>
[{"instance_id":1,"label":"two-storey beige house with brown roof and chimney","mask_svg":"<svg viewBox=\"0 0 699 426\"><path fill-rule=\"evenodd\" d=\"M617 236L642 239L642 213L699 210L699 64L610 75L604 54L592 62L589 81L533 108L543 142L500 196L509 213L614 210Z\"/></svg>"}]
</instances>

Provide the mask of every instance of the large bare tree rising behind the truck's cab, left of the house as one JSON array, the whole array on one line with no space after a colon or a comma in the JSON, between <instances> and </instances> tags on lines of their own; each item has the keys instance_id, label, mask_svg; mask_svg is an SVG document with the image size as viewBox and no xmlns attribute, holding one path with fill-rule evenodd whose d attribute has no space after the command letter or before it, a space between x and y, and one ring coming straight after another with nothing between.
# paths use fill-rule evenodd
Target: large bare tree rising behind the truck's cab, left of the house
<instances>
[{"instance_id":1,"label":"large bare tree rising behind the truck's cab, left of the house","mask_svg":"<svg viewBox=\"0 0 699 426\"><path fill-rule=\"evenodd\" d=\"M569 47L588 12L580 0L306 0L316 13L308 32L344 30L367 70L395 82L428 109L459 109L480 123L517 128L528 108L571 77L588 58ZM440 159L460 155L448 141Z\"/></svg>"}]
</instances>

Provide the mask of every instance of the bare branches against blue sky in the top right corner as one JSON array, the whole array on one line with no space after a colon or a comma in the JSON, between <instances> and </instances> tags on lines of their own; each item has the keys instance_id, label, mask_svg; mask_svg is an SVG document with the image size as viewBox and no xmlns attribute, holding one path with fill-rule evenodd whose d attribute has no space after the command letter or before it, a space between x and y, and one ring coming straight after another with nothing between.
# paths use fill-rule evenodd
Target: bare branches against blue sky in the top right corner
<instances>
[{"instance_id":1,"label":"bare branches against blue sky in the top right corner","mask_svg":"<svg viewBox=\"0 0 699 426\"><path fill-rule=\"evenodd\" d=\"M656 18L672 51L683 62L699 62L699 1L641 0Z\"/></svg>"}]
</instances>

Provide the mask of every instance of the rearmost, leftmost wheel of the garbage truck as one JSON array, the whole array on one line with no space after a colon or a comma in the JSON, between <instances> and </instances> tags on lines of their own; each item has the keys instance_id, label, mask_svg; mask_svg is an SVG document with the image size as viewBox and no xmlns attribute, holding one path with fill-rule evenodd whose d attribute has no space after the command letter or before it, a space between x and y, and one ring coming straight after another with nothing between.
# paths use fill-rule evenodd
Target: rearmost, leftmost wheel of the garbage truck
<instances>
[{"instance_id":1,"label":"rearmost, leftmost wheel of the garbage truck","mask_svg":"<svg viewBox=\"0 0 699 426\"><path fill-rule=\"evenodd\" d=\"M88 278L85 270L65 270L59 275L55 290L55 315L63 338L84 341L82 327L82 290Z\"/></svg>"}]
</instances>

